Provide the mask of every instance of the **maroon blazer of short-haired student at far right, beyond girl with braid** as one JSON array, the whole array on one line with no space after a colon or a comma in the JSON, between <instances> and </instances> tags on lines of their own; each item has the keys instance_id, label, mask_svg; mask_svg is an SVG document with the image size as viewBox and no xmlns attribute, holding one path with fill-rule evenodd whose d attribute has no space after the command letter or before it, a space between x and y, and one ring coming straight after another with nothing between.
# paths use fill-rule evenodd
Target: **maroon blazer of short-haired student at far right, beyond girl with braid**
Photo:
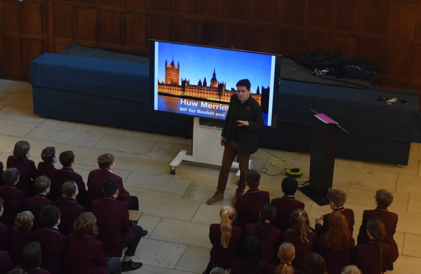
<instances>
[{"instance_id":1,"label":"maroon blazer of short-haired student at far right, beyond girl with braid","mask_svg":"<svg viewBox=\"0 0 421 274\"><path fill-rule=\"evenodd\" d=\"M398 225L398 215L393 212L389 212L387 209L376 208L375 210L365 210L363 213L363 223L360 227L360 233L357 237L357 244L365 244L368 242L369 237L367 235L367 222L371 219L377 219L384 225L384 238L383 243L390 246L392 249L392 259L396 261L399 257L398 245L393 239L393 235L396 232L396 226Z\"/></svg>"}]
</instances>

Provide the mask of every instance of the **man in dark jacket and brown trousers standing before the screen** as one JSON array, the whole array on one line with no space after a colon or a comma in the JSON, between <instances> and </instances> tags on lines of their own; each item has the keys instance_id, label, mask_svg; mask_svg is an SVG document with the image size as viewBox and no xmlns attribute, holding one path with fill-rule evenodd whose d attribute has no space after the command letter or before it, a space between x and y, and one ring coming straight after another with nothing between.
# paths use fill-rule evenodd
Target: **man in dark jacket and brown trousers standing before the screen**
<instances>
[{"instance_id":1,"label":"man in dark jacket and brown trousers standing before the screen","mask_svg":"<svg viewBox=\"0 0 421 274\"><path fill-rule=\"evenodd\" d=\"M250 96L250 81L243 79L237 83L237 94L231 96L227 117L221 134L221 145L225 146L218 187L214 196L207 200L214 204L224 199L229 169L235 156L240 168L240 179L232 203L244 192L245 173L249 170L250 155L257 147L257 132L263 129L263 114L259 103Z\"/></svg>"}]
</instances>

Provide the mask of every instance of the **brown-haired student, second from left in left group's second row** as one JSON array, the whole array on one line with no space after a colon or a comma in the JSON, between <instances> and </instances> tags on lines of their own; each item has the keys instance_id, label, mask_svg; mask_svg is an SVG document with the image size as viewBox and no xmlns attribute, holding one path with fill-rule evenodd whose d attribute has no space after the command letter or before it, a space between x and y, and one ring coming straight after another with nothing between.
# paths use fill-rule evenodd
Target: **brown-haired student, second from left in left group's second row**
<instances>
[{"instance_id":1,"label":"brown-haired student, second from left in left group's second row","mask_svg":"<svg viewBox=\"0 0 421 274\"><path fill-rule=\"evenodd\" d=\"M38 177L33 183L35 187L35 196L27 197L22 206L22 211L30 211L33 216L37 216L33 221L33 226L31 228L32 232L37 231L38 228L44 227L44 224L41 223L39 215L41 210L47 205L53 205L54 203L47 199L47 194L50 192L51 181L47 176Z\"/></svg>"}]
</instances>

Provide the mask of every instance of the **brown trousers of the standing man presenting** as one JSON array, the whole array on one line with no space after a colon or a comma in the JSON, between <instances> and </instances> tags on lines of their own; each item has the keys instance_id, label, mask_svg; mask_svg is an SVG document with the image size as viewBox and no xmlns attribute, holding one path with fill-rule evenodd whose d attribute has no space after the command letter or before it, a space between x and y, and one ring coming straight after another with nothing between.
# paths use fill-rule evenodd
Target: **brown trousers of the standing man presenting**
<instances>
[{"instance_id":1,"label":"brown trousers of the standing man presenting","mask_svg":"<svg viewBox=\"0 0 421 274\"><path fill-rule=\"evenodd\" d=\"M221 171L219 172L218 187L219 191L222 193L225 192L227 186L229 170L231 168L232 162L234 161L235 156L237 156L237 161L240 168L240 179L238 182L238 188L236 192L242 194L245 189L245 173L249 170L249 160L250 155L244 156L241 155L239 146L237 142L229 141L227 146L224 149L224 156L222 156L222 166Z\"/></svg>"}]
</instances>

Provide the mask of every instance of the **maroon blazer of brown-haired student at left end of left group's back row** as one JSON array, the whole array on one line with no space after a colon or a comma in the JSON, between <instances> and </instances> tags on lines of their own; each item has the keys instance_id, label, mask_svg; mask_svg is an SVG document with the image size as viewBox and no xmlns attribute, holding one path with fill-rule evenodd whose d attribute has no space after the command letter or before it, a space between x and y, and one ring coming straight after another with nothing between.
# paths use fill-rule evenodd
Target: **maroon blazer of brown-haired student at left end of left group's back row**
<instances>
[{"instance_id":1,"label":"maroon blazer of brown-haired student at left end of left group's back row","mask_svg":"<svg viewBox=\"0 0 421 274\"><path fill-rule=\"evenodd\" d=\"M35 163L29 159L13 159L13 155L7 158L7 168L15 167L19 169L19 182L16 184L17 188L25 193L26 197L33 196L33 181L35 180L35 174L37 173L37 167Z\"/></svg>"}]
</instances>

